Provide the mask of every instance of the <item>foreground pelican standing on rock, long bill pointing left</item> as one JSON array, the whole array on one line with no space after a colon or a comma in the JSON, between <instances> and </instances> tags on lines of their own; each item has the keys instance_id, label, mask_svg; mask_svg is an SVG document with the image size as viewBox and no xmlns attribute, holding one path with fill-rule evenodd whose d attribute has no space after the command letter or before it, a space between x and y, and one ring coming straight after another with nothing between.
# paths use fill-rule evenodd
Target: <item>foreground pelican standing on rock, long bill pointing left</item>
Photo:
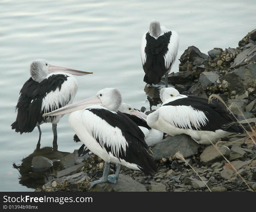
<instances>
[{"instance_id":1,"label":"foreground pelican standing on rock, long bill pointing left","mask_svg":"<svg viewBox=\"0 0 256 212\"><path fill-rule=\"evenodd\" d=\"M56 116L70 113L70 126L79 139L105 161L102 178L91 182L90 187L103 182L116 183L121 164L141 170L146 175L153 175L157 171L143 132L118 111L121 102L118 89L105 88L96 96L44 114ZM115 175L108 175L110 162L118 164Z\"/></svg>"}]
</instances>

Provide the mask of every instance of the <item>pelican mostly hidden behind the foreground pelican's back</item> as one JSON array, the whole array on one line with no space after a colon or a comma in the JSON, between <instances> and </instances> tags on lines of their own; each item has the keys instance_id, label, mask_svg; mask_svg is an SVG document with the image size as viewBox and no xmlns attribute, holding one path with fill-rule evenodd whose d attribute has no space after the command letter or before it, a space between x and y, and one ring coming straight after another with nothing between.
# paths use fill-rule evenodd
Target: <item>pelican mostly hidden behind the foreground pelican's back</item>
<instances>
[{"instance_id":1,"label":"pelican mostly hidden behind the foreground pelican's back","mask_svg":"<svg viewBox=\"0 0 256 212\"><path fill-rule=\"evenodd\" d=\"M138 127L142 130L142 132L145 135L145 141L148 146L155 145L156 143L163 140L163 132L152 129L150 126L147 125L146 114L141 113L138 109L133 108L131 105L127 103L122 103L118 110L124 113L129 119L131 119L131 121L133 121L136 125L138 125ZM137 112L141 113L140 116L138 116ZM74 141L75 142L80 141L80 139L76 134L74 135ZM90 150L83 144L78 150L78 155L83 156L88 152L90 152Z\"/></svg>"}]
</instances>

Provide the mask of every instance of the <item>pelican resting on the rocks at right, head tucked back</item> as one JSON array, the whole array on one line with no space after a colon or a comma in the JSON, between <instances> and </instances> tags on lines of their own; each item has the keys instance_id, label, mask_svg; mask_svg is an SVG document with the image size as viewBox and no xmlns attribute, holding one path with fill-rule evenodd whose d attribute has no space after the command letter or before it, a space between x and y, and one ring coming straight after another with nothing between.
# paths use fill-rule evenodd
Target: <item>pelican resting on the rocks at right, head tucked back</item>
<instances>
[{"instance_id":1,"label":"pelican resting on the rocks at right, head tucked back","mask_svg":"<svg viewBox=\"0 0 256 212\"><path fill-rule=\"evenodd\" d=\"M160 98L163 104L147 116L147 124L171 136L187 134L198 143L210 144L243 132L226 109L208 104L207 98L182 95L175 88L161 89Z\"/></svg>"}]
</instances>

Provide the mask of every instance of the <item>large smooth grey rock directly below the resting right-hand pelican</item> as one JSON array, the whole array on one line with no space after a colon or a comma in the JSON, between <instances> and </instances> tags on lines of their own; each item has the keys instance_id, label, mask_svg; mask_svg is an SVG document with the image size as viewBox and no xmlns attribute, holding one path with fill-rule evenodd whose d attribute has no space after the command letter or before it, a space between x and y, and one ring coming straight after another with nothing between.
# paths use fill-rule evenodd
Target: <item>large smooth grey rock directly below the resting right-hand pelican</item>
<instances>
[{"instance_id":1,"label":"large smooth grey rock directly below the resting right-hand pelican","mask_svg":"<svg viewBox=\"0 0 256 212\"><path fill-rule=\"evenodd\" d=\"M153 158L159 160L163 157L173 157L176 152L181 152L184 157L190 157L197 153L199 147L200 145L188 135L168 136L154 146L152 150Z\"/></svg>"}]
</instances>

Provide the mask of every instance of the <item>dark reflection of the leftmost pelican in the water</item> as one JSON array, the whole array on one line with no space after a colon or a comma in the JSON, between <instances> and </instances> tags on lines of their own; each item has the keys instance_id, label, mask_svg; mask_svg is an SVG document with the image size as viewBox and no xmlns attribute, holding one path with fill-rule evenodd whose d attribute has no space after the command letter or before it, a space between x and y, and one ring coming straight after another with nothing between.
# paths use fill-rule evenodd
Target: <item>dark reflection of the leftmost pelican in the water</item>
<instances>
[{"instance_id":1,"label":"dark reflection of the leftmost pelican in the water","mask_svg":"<svg viewBox=\"0 0 256 212\"><path fill-rule=\"evenodd\" d=\"M57 139L57 138L56 138ZM56 140L57 141L57 140ZM13 164L13 168L19 171L19 183L28 188L38 188L45 184L47 180L56 177L56 171L61 168L61 163L58 161L61 158L67 156L70 152L61 152L54 150L53 147L44 147L40 149L40 137L38 140L37 148L29 156L22 159L21 164ZM35 157L42 156L42 160L45 157L52 161L52 166L48 167L36 167L35 164L39 164L40 161L37 160L35 163ZM33 166L32 166L32 160ZM44 161L41 161L41 164ZM40 165L39 165L40 166Z\"/></svg>"}]
</instances>

